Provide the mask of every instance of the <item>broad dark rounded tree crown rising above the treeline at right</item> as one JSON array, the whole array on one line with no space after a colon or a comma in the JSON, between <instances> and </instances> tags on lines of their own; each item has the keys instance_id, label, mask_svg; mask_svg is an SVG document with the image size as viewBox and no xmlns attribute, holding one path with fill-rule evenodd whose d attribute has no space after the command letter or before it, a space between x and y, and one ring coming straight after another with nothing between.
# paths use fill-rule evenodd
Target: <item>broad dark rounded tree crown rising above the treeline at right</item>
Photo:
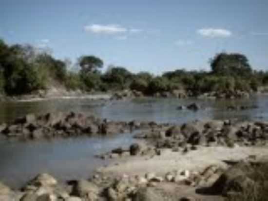
<instances>
[{"instance_id":1,"label":"broad dark rounded tree crown rising above the treeline at right","mask_svg":"<svg viewBox=\"0 0 268 201\"><path fill-rule=\"evenodd\" d=\"M252 74L249 60L242 54L220 53L211 59L210 62L213 74L241 77L247 77Z\"/></svg>"}]
</instances>

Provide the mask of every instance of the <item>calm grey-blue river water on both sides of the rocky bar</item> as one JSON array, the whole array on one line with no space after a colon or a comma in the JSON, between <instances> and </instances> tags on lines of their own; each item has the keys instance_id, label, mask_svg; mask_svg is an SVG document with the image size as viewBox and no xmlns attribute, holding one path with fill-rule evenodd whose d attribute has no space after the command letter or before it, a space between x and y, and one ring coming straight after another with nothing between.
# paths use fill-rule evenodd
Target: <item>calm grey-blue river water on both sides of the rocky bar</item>
<instances>
[{"instance_id":1,"label":"calm grey-blue river water on both sides of the rocky bar","mask_svg":"<svg viewBox=\"0 0 268 201\"><path fill-rule=\"evenodd\" d=\"M196 112L176 110L180 105L196 102L203 109ZM258 108L228 111L230 105L256 105ZM0 102L0 122L12 121L27 113L74 111L95 114L119 121L156 121L183 123L192 120L233 119L268 120L265 95L236 101L196 99L135 99L132 101L90 101L88 99L54 99L46 101ZM0 181L19 187L41 172L59 180L87 178L94 169L106 165L94 156L118 146L133 143L132 134L108 137L79 137L51 141L0 141Z\"/></svg>"}]
</instances>

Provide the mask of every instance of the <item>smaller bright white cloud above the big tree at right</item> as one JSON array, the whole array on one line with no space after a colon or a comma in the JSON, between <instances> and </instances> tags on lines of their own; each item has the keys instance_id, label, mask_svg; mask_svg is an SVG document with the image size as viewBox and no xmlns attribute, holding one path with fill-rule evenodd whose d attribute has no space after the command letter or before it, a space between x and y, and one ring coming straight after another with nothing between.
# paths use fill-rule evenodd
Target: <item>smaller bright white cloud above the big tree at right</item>
<instances>
[{"instance_id":1,"label":"smaller bright white cloud above the big tree at right","mask_svg":"<svg viewBox=\"0 0 268 201\"><path fill-rule=\"evenodd\" d=\"M215 29L215 28L198 29L197 33L203 37L208 38L227 38L232 35L232 33L227 29Z\"/></svg>"}]
</instances>

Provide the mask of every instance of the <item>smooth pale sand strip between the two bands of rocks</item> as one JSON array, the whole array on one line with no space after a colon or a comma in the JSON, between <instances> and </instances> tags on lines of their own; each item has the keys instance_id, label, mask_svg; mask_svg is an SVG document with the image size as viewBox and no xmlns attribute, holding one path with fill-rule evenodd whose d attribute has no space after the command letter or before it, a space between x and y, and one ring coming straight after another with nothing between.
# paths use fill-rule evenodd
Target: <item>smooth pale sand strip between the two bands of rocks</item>
<instances>
[{"instance_id":1,"label":"smooth pale sand strip between the two bands of rocks","mask_svg":"<svg viewBox=\"0 0 268 201\"><path fill-rule=\"evenodd\" d=\"M144 175L148 172L163 176L169 171L190 170L200 171L210 165L226 168L224 161L239 161L250 155L265 157L268 155L267 147L198 147L197 150L187 154L172 152L163 149L160 156L133 156L127 159L116 159L111 165L101 167L99 170L115 175Z\"/></svg>"}]
</instances>

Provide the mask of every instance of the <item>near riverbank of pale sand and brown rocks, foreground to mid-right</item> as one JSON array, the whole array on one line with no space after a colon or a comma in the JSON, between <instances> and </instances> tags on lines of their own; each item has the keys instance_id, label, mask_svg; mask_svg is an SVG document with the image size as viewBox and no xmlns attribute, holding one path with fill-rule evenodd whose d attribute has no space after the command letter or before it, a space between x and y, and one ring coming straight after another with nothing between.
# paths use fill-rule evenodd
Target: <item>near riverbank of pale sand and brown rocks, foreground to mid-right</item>
<instances>
[{"instance_id":1,"label":"near riverbank of pale sand and brown rocks, foreground to mid-right","mask_svg":"<svg viewBox=\"0 0 268 201\"><path fill-rule=\"evenodd\" d=\"M60 117L65 120L70 116L79 117L76 114ZM32 115L25 118L19 121L33 120ZM57 118L53 120L62 120ZM149 123L145 127L133 121L132 125L143 128L133 136L139 140L98 155L112 161L97 168L91 178L65 183L40 174L21 189L11 190L0 184L0 198L5 201L224 201L226 196L241 194L257 182L251 181L242 167L248 165L253 171L254 165L267 161L267 121Z\"/></svg>"}]
</instances>

